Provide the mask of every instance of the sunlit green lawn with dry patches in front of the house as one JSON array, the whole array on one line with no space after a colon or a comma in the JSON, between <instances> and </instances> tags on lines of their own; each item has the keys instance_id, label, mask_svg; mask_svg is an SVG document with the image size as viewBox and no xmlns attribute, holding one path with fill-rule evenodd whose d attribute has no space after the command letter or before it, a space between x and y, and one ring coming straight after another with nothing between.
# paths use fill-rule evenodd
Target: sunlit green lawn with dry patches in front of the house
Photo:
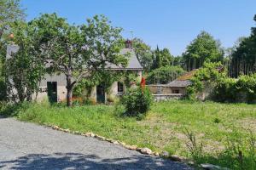
<instances>
[{"instance_id":1,"label":"sunlit green lawn with dry patches in front of the house","mask_svg":"<svg viewBox=\"0 0 256 170\"><path fill-rule=\"evenodd\" d=\"M49 123L74 131L98 133L127 144L191 157L187 146L189 140L184 134L187 129L195 134L197 147L203 144L203 152L194 156L195 161L234 169L256 168L256 148L253 146L256 139L250 135L250 132L254 137L256 134L256 105L160 102L154 103L143 121L117 116L119 110L108 105L73 108L30 105L20 110L17 117L21 121ZM239 150L242 161L236 159Z\"/></svg>"}]
</instances>

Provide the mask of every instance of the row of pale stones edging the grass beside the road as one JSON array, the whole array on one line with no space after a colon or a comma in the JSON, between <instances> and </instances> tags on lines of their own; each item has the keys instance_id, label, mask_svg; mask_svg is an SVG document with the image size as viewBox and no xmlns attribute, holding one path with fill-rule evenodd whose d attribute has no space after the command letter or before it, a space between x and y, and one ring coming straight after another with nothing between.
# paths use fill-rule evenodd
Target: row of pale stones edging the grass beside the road
<instances>
[{"instance_id":1,"label":"row of pale stones edging the grass beside the road","mask_svg":"<svg viewBox=\"0 0 256 170\"><path fill-rule=\"evenodd\" d=\"M139 148L139 147L137 147L137 145L125 144L124 142L121 142L119 140L108 139L108 138L105 138L105 137L100 136L100 135L95 134L95 133L80 133L79 131L70 131L69 129L64 129L64 128L58 127L56 125L49 125L49 124L44 124L44 125L46 127L51 127L54 130L58 130L58 131L61 131L61 132L64 132L64 133L73 133L73 134L76 134L76 135L81 135L81 136L85 136L85 137L92 137L92 138L96 138L96 139L99 139L99 140L102 140L102 141L107 141L107 142L112 143L112 144L119 144L119 145L123 146L125 149L137 150L138 152L140 152L144 155L160 156L160 157L163 157L163 158L166 158L166 159L170 159L172 161L180 161L180 162L189 164L190 166L195 165L194 161L191 161L191 160L187 159L186 157L177 156L177 155L169 155L169 153L166 152L166 151L164 151L162 153L159 153L159 152L152 151L148 148Z\"/></svg>"}]
</instances>

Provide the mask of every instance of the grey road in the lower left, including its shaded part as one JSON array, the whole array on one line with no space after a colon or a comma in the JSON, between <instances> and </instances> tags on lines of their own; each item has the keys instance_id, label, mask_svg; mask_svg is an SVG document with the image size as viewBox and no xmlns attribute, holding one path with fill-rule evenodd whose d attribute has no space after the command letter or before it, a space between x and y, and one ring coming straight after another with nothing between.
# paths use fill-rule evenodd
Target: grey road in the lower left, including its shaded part
<instances>
[{"instance_id":1,"label":"grey road in the lower left, including its shaded part","mask_svg":"<svg viewBox=\"0 0 256 170\"><path fill-rule=\"evenodd\" d=\"M0 169L190 168L94 138L0 118Z\"/></svg>"}]
</instances>

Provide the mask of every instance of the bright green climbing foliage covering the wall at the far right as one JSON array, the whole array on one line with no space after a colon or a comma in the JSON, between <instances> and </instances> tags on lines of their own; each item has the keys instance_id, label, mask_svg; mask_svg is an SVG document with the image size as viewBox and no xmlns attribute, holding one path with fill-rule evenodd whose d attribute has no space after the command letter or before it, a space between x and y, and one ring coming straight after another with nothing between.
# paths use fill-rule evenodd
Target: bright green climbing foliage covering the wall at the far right
<instances>
[{"instance_id":1,"label":"bright green climbing foliage covering the wall at the far right","mask_svg":"<svg viewBox=\"0 0 256 170\"><path fill-rule=\"evenodd\" d=\"M210 98L216 101L256 103L256 74L234 79L227 77L222 68L220 63L208 63L199 69L187 88L189 99L208 88Z\"/></svg>"}]
</instances>

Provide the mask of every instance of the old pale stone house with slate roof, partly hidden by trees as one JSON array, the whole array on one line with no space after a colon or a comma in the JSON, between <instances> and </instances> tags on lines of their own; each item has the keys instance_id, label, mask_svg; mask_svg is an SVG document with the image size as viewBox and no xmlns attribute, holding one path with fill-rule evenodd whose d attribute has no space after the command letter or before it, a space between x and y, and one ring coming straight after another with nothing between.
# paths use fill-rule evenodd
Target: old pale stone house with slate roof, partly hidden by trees
<instances>
[{"instance_id":1,"label":"old pale stone house with slate roof, partly hidden by trees","mask_svg":"<svg viewBox=\"0 0 256 170\"><path fill-rule=\"evenodd\" d=\"M7 48L7 59L11 57L12 53L18 51L16 45L9 45ZM138 77L142 78L143 66L139 63L137 56L132 49L131 41L125 42L125 48L120 50L120 54L129 53L129 61L126 67L121 67L118 65L108 65L108 69L113 71L132 71ZM49 98L53 102L60 102L65 100L67 97L67 82L64 74L54 74L54 75L45 75L44 80L40 82L40 92L37 95L37 100L41 101L45 98ZM109 94L115 97L119 97L125 92L125 83L123 78L120 78L119 81L113 82L110 89L108 90ZM86 89L84 89L86 91ZM90 99L97 103L105 103L107 101L107 92L102 84L98 84L90 90L89 94ZM36 98L36 95L33 95L33 98Z\"/></svg>"}]
</instances>

